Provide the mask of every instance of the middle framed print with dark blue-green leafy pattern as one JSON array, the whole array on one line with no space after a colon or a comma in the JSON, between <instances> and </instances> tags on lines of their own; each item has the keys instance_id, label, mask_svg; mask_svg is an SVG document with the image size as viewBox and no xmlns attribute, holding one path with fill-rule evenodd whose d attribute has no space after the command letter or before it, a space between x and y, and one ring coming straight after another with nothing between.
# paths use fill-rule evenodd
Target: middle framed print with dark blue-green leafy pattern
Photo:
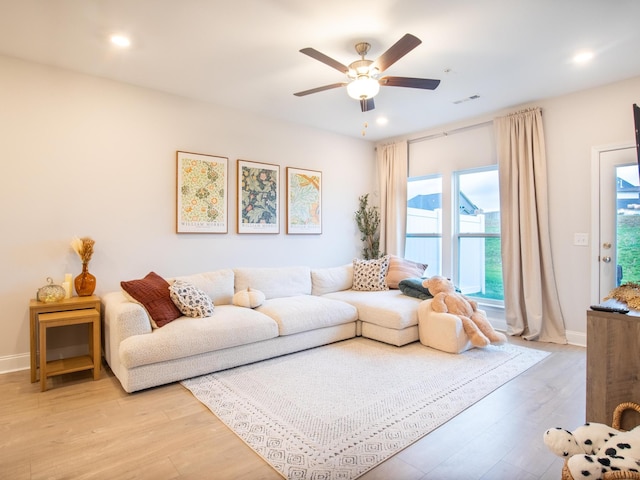
<instances>
[{"instance_id":1,"label":"middle framed print with dark blue-green leafy pattern","mask_svg":"<svg viewBox=\"0 0 640 480\"><path fill-rule=\"evenodd\" d=\"M280 233L280 167L238 160L238 233Z\"/></svg>"}]
</instances>

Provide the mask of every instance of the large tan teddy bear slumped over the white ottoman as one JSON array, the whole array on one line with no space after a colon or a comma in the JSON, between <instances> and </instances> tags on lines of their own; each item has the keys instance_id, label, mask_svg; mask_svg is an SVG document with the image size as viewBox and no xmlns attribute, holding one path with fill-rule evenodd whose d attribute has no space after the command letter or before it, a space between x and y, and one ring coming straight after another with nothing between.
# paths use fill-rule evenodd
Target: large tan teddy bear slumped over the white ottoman
<instances>
[{"instance_id":1,"label":"large tan teddy bear slumped over the white ottoman","mask_svg":"<svg viewBox=\"0 0 640 480\"><path fill-rule=\"evenodd\" d=\"M462 328L474 347L500 345L507 341L503 333L493 329L485 312L478 310L478 304L458 293L448 278L434 275L425 279L422 286L433 295L431 308L434 312L451 313L460 318Z\"/></svg>"}]
</instances>

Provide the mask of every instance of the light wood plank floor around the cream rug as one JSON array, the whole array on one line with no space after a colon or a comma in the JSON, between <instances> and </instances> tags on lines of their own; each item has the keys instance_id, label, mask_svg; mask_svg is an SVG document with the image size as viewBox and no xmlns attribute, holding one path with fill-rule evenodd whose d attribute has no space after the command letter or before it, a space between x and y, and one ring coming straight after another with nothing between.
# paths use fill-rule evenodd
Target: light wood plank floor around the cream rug
<instances>
[{"instance_id":1,"label":"light wood plank floor around the cream rug","mask_svg":"<svg viewBox=\"0 0 640 480\"><path fill-rule=\"evenodd\" d=\"M552 352L364 480L559 479L549 427L584 423L585 349ZM108 368L54 377L0 375L0 478L281 479L180 384L125 393Z\"/></svg>"}]
</instances>

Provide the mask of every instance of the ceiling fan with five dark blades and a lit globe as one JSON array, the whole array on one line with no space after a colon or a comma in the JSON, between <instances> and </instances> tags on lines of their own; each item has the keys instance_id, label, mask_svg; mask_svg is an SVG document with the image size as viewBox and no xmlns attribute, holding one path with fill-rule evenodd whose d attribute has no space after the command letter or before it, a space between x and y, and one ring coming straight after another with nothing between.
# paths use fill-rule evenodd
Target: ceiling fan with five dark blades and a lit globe
<instances>
[{"instance_id":1,"label":"ceiling fan with five dark blades and a lit globe","mask_svg":"<svg viewBox=\"0 0 640 480\"><path fill-rule=\"evenodd\" d=\"M371 45L367 42L360 42L356 44L356 52L358 52L358 55L360 55L361 58L360 60L352 62L349 66L343 65L337 60L328 57L314 48L303 48L300 50L301 53L304 53L311 58L315 58L325 65L329 65L330 67L344 73L347 76L348 81L332 83L330 85L312 88L311 90L304 90L302 92L294 93L294 95L297 97L303 97L305 95L323 92L333 88L347 87L347 93L349 96L356 100L360 100L360 108L363 112L368 112L375 108L373 97L378 94L380 86L434 90L440 84L440 80L410 77L379 78L379 75L382 72L421 43L422 41L419 38L407 33L386 52L380 55L377 60L372 61L365 58L371 48Z\"/></svg>"}]
</instances>

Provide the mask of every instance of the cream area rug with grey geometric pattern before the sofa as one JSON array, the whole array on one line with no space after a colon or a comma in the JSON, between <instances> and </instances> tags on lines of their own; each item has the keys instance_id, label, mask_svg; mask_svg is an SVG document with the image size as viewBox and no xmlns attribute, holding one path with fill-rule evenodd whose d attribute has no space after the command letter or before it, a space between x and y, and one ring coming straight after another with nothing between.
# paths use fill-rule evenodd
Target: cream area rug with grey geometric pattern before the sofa
<instances>
[{"instance_id":1,"label":"cream area rug with grey geometric pattern before the sofa","mask_svg":"<svg viewBox=\"0 0 640 480\"><path fill-rule=\"evenodd\" d=\"M287 479L359 477L547 352L460 355L355 338L183 381Z\"/></svg>"}]
</instances>

